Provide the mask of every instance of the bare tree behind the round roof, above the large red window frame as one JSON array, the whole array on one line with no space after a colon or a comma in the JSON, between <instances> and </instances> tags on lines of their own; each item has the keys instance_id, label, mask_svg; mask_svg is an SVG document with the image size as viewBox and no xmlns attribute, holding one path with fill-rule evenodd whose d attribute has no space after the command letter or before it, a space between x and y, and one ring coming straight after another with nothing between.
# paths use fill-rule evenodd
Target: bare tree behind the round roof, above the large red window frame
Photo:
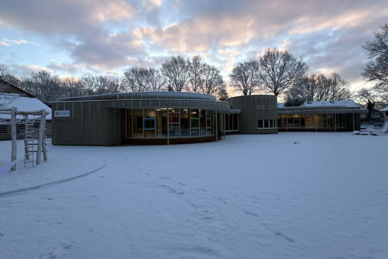
<instances>
[{"instance_id":1,"label":"bare tree behind the round roof, above the large red window frame","mask_svg":"<svg viewBox=\"0 0 388 259\"><path fill-rule=\"evenodd\" d=\"M180 55L167 58L162 63L162 74L166 77L169 90L181 92L189 82L189 60Z\"/></svg>"}]
</instances>

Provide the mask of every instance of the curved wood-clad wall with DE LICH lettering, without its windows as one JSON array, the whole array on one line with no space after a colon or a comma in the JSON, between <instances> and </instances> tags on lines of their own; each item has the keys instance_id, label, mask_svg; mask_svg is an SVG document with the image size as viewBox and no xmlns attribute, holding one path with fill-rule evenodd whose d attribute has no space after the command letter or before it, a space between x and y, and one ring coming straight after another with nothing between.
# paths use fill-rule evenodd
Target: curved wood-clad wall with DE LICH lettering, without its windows
<instances>
[{"instance_id":1,"label":"curved wood-clad wall with DE LICH lettering, without its windows","mask_svg":"<svg viewBox=\"0 0 388 259\"><path fill-rule=\"evenodd\" d=\"M274 95L237 96L226 100L232 109L241 109L239 130L242 134L275 134L277 127L258 129L258 120L277 120L277 100Z\"/></svg>"}]
</instances>

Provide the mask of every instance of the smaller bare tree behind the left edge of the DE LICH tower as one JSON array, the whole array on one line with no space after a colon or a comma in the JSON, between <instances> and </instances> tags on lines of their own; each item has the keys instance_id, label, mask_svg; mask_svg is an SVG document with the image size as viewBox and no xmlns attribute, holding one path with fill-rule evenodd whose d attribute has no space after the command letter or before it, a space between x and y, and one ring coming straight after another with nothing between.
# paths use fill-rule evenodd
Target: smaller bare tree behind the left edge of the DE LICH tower
<instances>
[{"instance_id":1,"label":"smaller bare tree behind the left edge of the DE LICH tower","mask_svg":"<svg viewBox=\"0 0 388 259\"><path fill-rule=\"evenodd\" d=\"M232 69L229 74L230 86L243 95L251 95L259 90L260 76L259 76L259 62L257 60L250 60L239 62Z\"/></svg>"}]
</instances>

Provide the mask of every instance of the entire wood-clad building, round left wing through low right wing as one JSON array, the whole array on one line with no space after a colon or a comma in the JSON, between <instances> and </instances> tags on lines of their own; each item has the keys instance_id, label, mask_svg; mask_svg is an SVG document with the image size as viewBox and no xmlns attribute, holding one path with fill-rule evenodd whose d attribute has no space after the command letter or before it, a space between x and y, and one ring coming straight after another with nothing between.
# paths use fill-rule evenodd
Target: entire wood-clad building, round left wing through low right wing
<instances>
[{"instance_id":1,"label":"entire wood-clad building, round left wing through low right wing","mask_svg":"<svg viewBox=\"0 0 388 259\"><path fill-rule=\"evenodd\" d=\"M226 102L191 92L94 95L52 103L52 144L179 144L216 141L228 134L353 131L360 129L364 113L352 100L284 107L274 95Z\"/></svg>"}]
</instances>

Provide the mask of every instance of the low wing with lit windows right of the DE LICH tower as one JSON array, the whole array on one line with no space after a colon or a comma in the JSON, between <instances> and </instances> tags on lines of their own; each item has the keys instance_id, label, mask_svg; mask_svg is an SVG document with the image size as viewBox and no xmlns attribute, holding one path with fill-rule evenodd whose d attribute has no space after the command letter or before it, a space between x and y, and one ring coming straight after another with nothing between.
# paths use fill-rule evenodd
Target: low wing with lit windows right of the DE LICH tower
<instances>
[{"instance_id":1,"label":"low wing with lit windows right of the DE LICH tower","mask_svg":"<svg viewBox=\"0 0 388 259\"><path fill-rule=\"evenodd\" d=\"M353 100L309 102L298 107L278 104L279 131L360 130L360 115L367 114Z\"/></svg>"}]
</instances>

